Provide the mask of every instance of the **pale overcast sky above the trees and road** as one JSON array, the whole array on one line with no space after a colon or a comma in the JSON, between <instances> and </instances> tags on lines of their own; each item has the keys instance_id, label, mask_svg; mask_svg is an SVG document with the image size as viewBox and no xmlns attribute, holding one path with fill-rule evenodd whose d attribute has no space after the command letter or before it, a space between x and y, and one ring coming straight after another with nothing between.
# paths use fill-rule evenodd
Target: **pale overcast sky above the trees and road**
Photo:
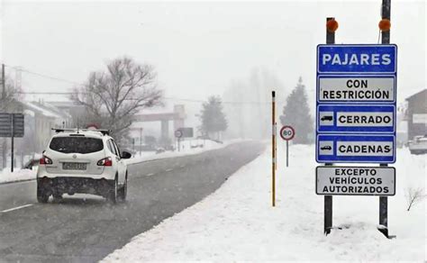
<instances>
[{"instance_id":1,"label":"pale overcast sky above the trees and road","mask_svg":"<svg viewBox=\"0 0 427 263\"><path fill-rule=\"evenodd\" d=\"M315 86L316 45L325 18L340 23L337 43L377 43L381 0L287 2L3 1L2 61L84 82L109 59L127 55L156 67L166 95L222 95L251 68L275 72L287 88L299 76ZM398 100L425 88L425 1L392 0L391 42L398 45ZM8 70L14 77L14 72ZM26 91L71 84L23 73Z\"/></svg>"}]
</instances>

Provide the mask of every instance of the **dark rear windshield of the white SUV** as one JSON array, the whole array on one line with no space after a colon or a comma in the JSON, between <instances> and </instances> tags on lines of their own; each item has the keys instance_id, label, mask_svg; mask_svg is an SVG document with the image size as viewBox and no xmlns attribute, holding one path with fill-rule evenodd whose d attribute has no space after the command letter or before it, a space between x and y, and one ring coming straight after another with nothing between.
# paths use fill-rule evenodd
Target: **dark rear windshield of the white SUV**
<instances>
[{"instance_id":1,"label":"dark rear windshield of the white SUV","mask_svg":"<svg viewBox=\"0 0 427 263\"><path fill-rule=\"evenodd\" d=\"M62 153L91 153L104 149L100 139L87 137L55 137L49 148Z\"/></svg>"}]
</instances>

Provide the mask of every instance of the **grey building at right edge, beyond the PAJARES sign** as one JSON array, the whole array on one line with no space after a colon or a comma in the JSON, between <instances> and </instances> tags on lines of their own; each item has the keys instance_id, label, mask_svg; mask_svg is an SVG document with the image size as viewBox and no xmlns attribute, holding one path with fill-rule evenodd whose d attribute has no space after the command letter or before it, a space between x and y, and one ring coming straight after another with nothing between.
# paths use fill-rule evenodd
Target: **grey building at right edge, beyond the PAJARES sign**
<instances>
[{"instance_id":1,"label":"grey building at right edge, beyond the PAJARES sign","mask_svg":"<svg viewBox=\"0 0 427 263\"><path fill-rule=\"evenodd\" d=\"M427 134L427 89L408 98L406 120L408 122L408 139Z\"/></svg>"}]
</instances>

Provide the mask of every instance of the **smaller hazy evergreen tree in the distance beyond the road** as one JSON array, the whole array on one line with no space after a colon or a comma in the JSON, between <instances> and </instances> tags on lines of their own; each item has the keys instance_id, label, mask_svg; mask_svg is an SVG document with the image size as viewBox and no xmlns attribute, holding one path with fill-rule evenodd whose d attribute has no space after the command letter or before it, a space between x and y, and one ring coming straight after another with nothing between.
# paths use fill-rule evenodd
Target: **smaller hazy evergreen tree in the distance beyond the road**
<instances>
[{"instance_id":1,"label":"smaller hazy evergreen tree in the distance beyond the road","mask_svg":"<svg viewBox=\"0 0 427 263\"><path fill-rule=\"evenodd\" d=\"M223 103L219 96L208 97L207 102L203 104L200 119L202 132L205 135L216 133L216 137L219 139L220 132L225 131L228 126L223 113Z\"/></svg>"}]
</instances>

